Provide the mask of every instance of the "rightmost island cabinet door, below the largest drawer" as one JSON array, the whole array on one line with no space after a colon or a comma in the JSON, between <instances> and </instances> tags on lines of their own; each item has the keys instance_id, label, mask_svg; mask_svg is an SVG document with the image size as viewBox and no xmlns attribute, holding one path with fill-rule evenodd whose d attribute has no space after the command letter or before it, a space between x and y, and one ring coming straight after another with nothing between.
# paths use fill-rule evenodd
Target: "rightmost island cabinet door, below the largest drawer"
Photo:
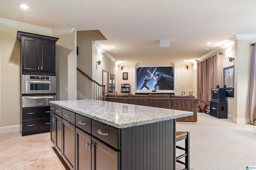
<instances>
[{"instance_id":1,"label":"rightmost island cabinet door, below the largest drawer","mask_svg":"<svg viewBox=\"0 0 256 170\"><path fill-rule=\"evenodd\" d=\"M120 152L92 137L92 170L120 170Z\"/></svg>"}]
</instances>

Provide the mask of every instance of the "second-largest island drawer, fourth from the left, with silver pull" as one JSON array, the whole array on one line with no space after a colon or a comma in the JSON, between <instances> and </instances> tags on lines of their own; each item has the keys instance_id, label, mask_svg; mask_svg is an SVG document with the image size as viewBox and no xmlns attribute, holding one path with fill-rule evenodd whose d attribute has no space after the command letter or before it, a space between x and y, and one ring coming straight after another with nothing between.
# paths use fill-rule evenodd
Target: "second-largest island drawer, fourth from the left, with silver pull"
<instances>
[{"instance_id":1,"label":"second-largest island drawer, fourth from the left, with silver pull","mask_svg":"<svg viewBox=\"0 0 256 170\"><path fill-rule=\"evenodd\" d=\"M92 133L92 119L88 117L76 114L76 126L88 133Z\"/></svg>"}]
</instances>

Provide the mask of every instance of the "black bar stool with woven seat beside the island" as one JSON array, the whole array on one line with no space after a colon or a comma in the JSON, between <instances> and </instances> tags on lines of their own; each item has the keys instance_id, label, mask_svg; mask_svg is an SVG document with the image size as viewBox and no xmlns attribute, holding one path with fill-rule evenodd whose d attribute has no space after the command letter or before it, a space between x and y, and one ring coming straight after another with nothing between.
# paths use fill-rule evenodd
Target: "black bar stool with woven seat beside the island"
<instances>
[{"instance_id":1,"label":"black bar stool with woven seat beside the island","mask_svg":"<svg viewBox=\"0 0 256 170\"><path fill-rule=\"evenodd\" d=\"M182 148L182 147L179 147L179 146L176 145L177 149L185 150L184 154L181 154L180 156L176 157L176 162L185 165L184 170L189 170L189 168L190 168L189 136L190 136L189 132L184 132L184 131L177 131L176 132L176 142L185 139L185 148ZM185 162L180 161L180 159L183 158L183 157L185 157Z\"/></svg>"}]
</instances>

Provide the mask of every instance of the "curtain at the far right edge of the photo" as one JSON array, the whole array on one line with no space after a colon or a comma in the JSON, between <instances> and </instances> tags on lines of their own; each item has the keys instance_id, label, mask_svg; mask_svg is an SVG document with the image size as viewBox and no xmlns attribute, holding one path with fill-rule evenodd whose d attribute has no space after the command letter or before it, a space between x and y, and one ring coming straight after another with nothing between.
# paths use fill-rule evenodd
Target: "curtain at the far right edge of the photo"
<instances>
[{"instance_id":1,"label":"curtain at the far right edge of the photo","mask_svg":"<svg viewBox=\"0 0 256 170\"><path fill-rule=\"evenodd\" d=\"M252 44L252 63L250 76L250 120L256 125L256 46Z\"/></svg>"}]
</instances>

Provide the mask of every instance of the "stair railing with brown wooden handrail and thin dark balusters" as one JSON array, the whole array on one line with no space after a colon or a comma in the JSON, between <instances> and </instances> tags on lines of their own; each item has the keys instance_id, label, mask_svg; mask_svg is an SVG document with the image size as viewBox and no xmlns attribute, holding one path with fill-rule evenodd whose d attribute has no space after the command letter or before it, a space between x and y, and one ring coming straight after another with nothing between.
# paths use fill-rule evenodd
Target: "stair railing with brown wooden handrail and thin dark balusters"
<instances>
[{"instance_id":1,"label":"stair railing with brown wooden handrail and thin dark balusters","mask_svg":"<svg viewBox=\"0 0 256 170\"><path fill-rule=\"evenodd\" d=\"M90 76L85 74L79 68L76 68L76 70L78 70L80 73L82 73L84 76L86 76L90 81L92 81L93 87L94 87L94 90L93 90L94 91L94 95L93 95L94 96L94 100L104 100L105 101L105 88L106 88L106 85L99 84L98 82L96 82L95 80L90 78ZM101 96L102 96L102 98L101 98Z\"/></svg>"}]
</instances>

